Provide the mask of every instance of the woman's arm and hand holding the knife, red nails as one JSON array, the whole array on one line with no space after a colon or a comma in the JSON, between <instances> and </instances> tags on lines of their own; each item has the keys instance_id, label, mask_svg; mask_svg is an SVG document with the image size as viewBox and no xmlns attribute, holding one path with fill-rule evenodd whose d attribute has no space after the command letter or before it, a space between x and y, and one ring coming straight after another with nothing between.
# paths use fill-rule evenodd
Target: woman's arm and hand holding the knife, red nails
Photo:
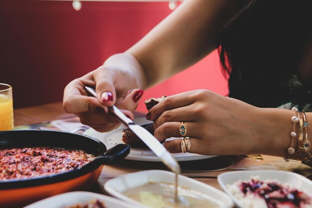
<instances>
[{"instance_id":1,"label":"woman's arm and hand holding the knife, red nails","mask_svg":"<svg viewBox=\"0 0 312 208\"><path fill-rule=\"evenodd\" d=\"M70 82L63 106L83 124L110 131L120 124L107 106L132 112L146 89L192 65L216 47L216 36L238 10L240 0L186 0L125 53L108 58L103 66ZM86 96L85 85L96 87L97 98ZM135 89L131 91L132 89Z\"/></svg>"}]
</instances>

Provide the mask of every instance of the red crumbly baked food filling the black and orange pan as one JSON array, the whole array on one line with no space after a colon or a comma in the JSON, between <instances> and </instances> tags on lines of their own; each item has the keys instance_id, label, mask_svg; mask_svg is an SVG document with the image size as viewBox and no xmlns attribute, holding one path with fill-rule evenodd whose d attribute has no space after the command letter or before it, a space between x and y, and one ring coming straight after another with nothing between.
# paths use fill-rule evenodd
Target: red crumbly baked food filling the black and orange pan
<instances>
[{"instance_id":1,"label":"red crumbly baked food filling the black and orange pan","mask_svg":"<svg viewBox=\"0 0 312 208\"><path fill-rule=\"evenodd\" d=\"M0 150L0 180L27 179L81 168L94 156L82 150L32 147Z\"/></svg>"}]
</instances>

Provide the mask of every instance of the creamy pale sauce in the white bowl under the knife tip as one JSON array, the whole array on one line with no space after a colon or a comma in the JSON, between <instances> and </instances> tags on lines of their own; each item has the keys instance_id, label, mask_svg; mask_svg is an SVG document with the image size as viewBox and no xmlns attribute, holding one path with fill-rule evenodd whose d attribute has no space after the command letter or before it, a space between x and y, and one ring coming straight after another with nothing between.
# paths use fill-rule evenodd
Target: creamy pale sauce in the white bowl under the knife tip
<instances>
[{"instance_id":1,"label":"creamy pale sauce in the white bowl under the knife tip","mask_svg":"<svg viewBox=\"0 0 312 208\"><path fill-rule=\"evenodd\" d=\"M174 202L174 186L166 183L148 183L123 193L151 208L216 208L218 204L207 195L178 187L179 202Z\"/></svg>"}]
</instances>

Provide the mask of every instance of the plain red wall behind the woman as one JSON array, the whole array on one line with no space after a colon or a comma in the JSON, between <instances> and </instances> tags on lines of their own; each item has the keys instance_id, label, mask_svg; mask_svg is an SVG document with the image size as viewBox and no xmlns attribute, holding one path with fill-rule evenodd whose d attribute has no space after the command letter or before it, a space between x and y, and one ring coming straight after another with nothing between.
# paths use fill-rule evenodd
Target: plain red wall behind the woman
<instances>
[{"instance_id":1,"label":"plain red wall behind the woman","mask_svg":"<svg viewBox=\"0 0 312 208\"><path fill-rule=\"evenodd\" d=\"M62 100L68 82L123 52L171 11L167 2L0 1L0 82L14 108ZM192 89L227 94L218 55L147 90L143 99ZM139 110L144 110L141 102Z\"/></svg>"}]
</instances>

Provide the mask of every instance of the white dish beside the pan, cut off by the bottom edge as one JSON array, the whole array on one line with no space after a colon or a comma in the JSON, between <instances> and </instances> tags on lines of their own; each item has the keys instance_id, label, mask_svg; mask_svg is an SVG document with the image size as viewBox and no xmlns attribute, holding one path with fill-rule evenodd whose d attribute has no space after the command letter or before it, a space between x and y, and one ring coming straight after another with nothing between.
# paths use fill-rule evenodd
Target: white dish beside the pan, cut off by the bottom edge
<instances>
[{"instance_id":1,"label":"white dish beside the pan, cut off by the bottom edge","mask_svg":"<svg viewBox=\"0 0 312 208\"><path fill-rule=\"evenodd\" d=\"M98 199L106 208L138 208L130 203L91 192L69 192L35 202L24 208L68 208L77 204L85 204ZM144 208L139 206L139 208Z\"/></svg>"}]
</instances>

